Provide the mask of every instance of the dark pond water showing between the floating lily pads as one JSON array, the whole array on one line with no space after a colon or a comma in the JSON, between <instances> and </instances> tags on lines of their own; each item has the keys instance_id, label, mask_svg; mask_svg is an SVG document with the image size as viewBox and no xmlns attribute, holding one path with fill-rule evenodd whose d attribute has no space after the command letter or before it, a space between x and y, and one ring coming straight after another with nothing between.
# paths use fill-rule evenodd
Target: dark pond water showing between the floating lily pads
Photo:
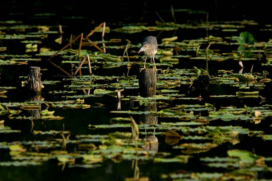
<instances>
[{"instance_id":1,"label":"dark pond water showing between the floating lily pads","mask_svg":"<svg viewBox=\"0 0 272 181\"><path fill-rule=\"evenodd\" d=\"M180 14L178 14L180 15ZM176 18L178 17L176 15ZM184 15L184 14L183 14ZM189 16L188 14L186 14ZM197 17L196 15L192 15L193 18ZM15 17L15 16L11 16ZM202 15L202 17L205 17ZM20 16L16 16L17 20L20 20ZM46 18L41 19L24 19L24 25L34 25L34 24L42 24L42 25L57 25L56 20L54 18L50 18L52 22L48 21ZM90 32L95 26L98 26L100 22L96 22L95 24L89 24L91 19L87 19L87 21L82 19L58 19L59 24L62 24L66 27L63 27L63 43L58 45L54 42L55 39L58 38L58 34L48 34L48 38L42 40L43 43L38 45L38 49L41 47L49 47L52 50L59 50L61 49L70 38L71 33L75 36L78 36L79 33L84 33L84 36ZM118 21L116 21L118 22ZM115 22L115 23L116 23ZM153 21L152 21L153 22ZM76 27L75 25L76 24ZM3 24L2 24L3 25ZM155 24L151 24L154 26ZM122 27L123 25L120 24L109 24L108 26L111 29L115 29L117 27ZM263 24L257 25L248 25L245 28L238 30L238 32L222 32L220 30L208 30L205 29L179 29L176 31L165 31L165 32L147 32L143 31L141 33L134 33L134 34L126 34L126 33L118 33L118 32L111 32L105 34L105 40L109 40L112 38L120 38L122 39L121 43L111 43L106 44L106 46L114 46L114 45L125 45L127 42L125 39L128 39L132 42L132 44L138 44L142 42L142 39L146 36L155 36L158 39L158 42L161 42L162 38L172 37L174 34L178 36L179 39L177 41L181 42L182 40L190 40L190 39L199 39L206 37L207 33L214 37L229 37L229 36L239 36L239 33L242 31L249 31L254 35L254 38L257 39L257 42L261 41L268 41L271 38L271 33L269 31L259 31L259 29L265 28ZM58 30L55 28L50 28L50 30ZM10 31L2 31L7 34L13 33L28 33L31 30L27 30L26 32L17 32L16 30ZM28 40L38 40L37 38L28 39ZM101 40L101 33L95 33L92 36L92 40ZM3 53L9 55L24 55L25 54L25 47L23 43L20 43L21 40L0 40L1 47L7 47L7 51ZM207 45L202 45L201 48L206 48ZM78 42L76 45L73 45L73 49L77 49ZM162 47L159 47L162 48ZM212 45L210 49L220 49L219 53L223 52L232 52L233 50L237 50L238 45ZM88 49L91 51L97 51L93 47L83 47L83 49ZM258 49L258 47L257 47ZM130 49L133 51L138 51L138 48ZM2 53L2 52L0 52ZM35 58L35 54L37 52L28 52L28 55L33 55L32 58ZM123 49L107 49L107 53L111 53L112 55L120 56L123 54ZM131 55L137 55L136 53L131 53ZM195 56L195 51L183 51L180 52L180 55L192 55ZM21 86L21 81L24 79L19 79L19 76L27 76L29 73L30 66L38 66L41 69L48 69L47 71L42 71L42 80L50 80L50 81L62 81L61 83L57 83L56 85L45 85L45 88L42 90L42 97L44 97L45 101L61 101L65 100L63 94L49 94L49 91L54 90L67 90L70 89L64 88L65 85L70 85L70 81L63 80L63 77L56 77L57 75L65 76L65 74L54 67L50 62L47 61L48 57L41 57L41 62L28 62L27 65L0 65L0 72L1 72L1 79L0 85L2 87L16 87L16 89L8 90L8 93L5 95L6 98L1 97L1 103L8 103L8 102L24 102L30 99L30 94L28 91L28 87ZM52 59L57 65L60 65L66 71L70 70L70 64L61 64L61 59L59 56L54 57ZM126 60L125 60L126 61ZM132 61L139 61L139 60L132 60ZM262 67L261 63L266 63L265 56L261 58L261 60L250 60L250 61L243 61L244 71L243 72L250 72L251 66L254 64L253 72L261 72L262 70L266 70L271 72L270 67ZM118 68L111 68L111 69L103 69L102 65L100 68L93 70L94 75L101 75L101 76L122 76L123 73L127 72L126 66L118 67ZM193 66L198 68L205 69L206 61L203 60L191 60L187 58L182 58L179 60L177 65L173 65L171 69L174 68L188 68L192 69ZM130 75L138 75L139 65L133 65L129 74ZM167 66L160 66L158 68L166 69ZM227 60L223 62L216 62L210 61L209 62L209 74L210 75L217 75L218 70L233 70L234 73L238 73L240 67L237 61L234 60ZM160 71L159 71L160 73ZM88 75L87 69L83 69L83 75ZM267 78L270 75L267 76ZM116 81L108 81L106 83L114 83ZM98 84L105 84L105 81L96 81L95 83ZM165 101L169 103L169 107L174 107L176 105L181 104L200 104L204 105L205 103L210 103L215 105L215 108L218 110L220 106L236 106L237 108L242 108L244 105L254 107L254 106L261 106L264 104L272 104L271 102L271 83L266 83L265 89L258 90L262 97L266 97L266 102L260 103L260 98L238 98L238 97L231 97L228 99L219 99L219 98L210 98L210 95L235 95L239 90L237 87L230 87L228 85L217 85L217 84L210 84L209 87L206 89L206 86L209 84L209 79L205 76L199 77L197 80L194 81L193 87L189 87L190 85L181 85L180 87L173 88L174 90L179 90L179 94L186 94L186 97L199 97L201 96L204 98L203 100L176 100L176 101ZM193 89L195 88L195 89ZM160 88L159 88L160 89ZM91 90L91 94L93 93ZM253 91L253 90L252 90ZM76 90L76 95L82 95L82 90ZM137 96L138 90L136 89L125 89L122 94L124 96ZM68 99L74 100L74 99ZM96 103L104 104L105 106L96 107ZM260 104L259 104L260 103ZM109 120L114 117L127 117L128 115L121 115L110 113L110 111L117 110L117 99L115 97L103 95L102 97L89 97L85 98L85 104L90 105L91 107L88 109L65 109L62 108L53 108L52 106L49 108L50 111L55 111L54 115L56 116L63 116L65 119L62 120L41 120L37 119L34 120L34 127L33 130L41 130L41 131L49 131L49 130L62 130L63 125L65 130L69 130L71 132L70 139L76 139L76 135L88 135L88 134L99 134L104 135L110 132L120 131L120 132L129 132L131 129L89 129L88 125L100 125L100 124L109 124ZM41 110L46 109L46 105L42 104ZM15 108L19 109L19 108ZM160 111L163 108L158 107L157 110ZM121 110L131 110L129 107L128 101L121 101ZM30 116L29 111L23 110L20 113L21 116ZM208 116L207 112L202 113L203 116ZM139 122L139 116L134 115L133 118L136 122ZM52 136L52 135L33 135L32 134L32 125L30 120L17 120L17 119L8 119L7 115L0 116L0 120L5 120L4 125L11 127L13 130L21 130L21 133L9 133L3 134L0 133L0 142L13 142L13 141L39 141L44 140L46 138L61 138L60 135ZM160 122L178 122L178 119L173 118L158 118L158 124ZM265 120L262 120L259 124L254 124L251 122L246 121L222 121L222 120L214 120L211 121L209 125L211 126L242 126L244 128L248 128L250 130L263 130L265 134L272 134L271 132L271 118L267 117ZM143 130L140 130L143 131ZM164 135L156 135L158 138L159 148L158 151L162 152L170 152L172 156L181 154L180 149L172 149L172 145L165 144L165 136ZM143 135L140 138L144 138ZM177 170L186 170L188 173L192 172L228 172L225 168L210 168L203 165L203 162L199 161L199 158L203 157L227 157L227 150L230 149L240 149L240 150L248 150L254 152L257 155L261 155L264 157L271 157L270 151L270 141L263 141L260 137L249 137L248 135L240 135L239 137L240 143L232 145L228 142L223 143L219 147L212 148L208 152L199 153L199 154L192 154L193 158L189 160L188 163L154 163L151 161L144 161L138 160L138 167L139 167L139 174L140 176L148 176L150 180L160 180L160 174L168 174L172 172L177 172ZM178 144L188 143L188 140L180 140ZM211 142L209 141L191 141L195 143L202 143L202 142ZM94 143L97 146L100 142ZM24 145L25 148L30 150L30 145ZM60 147L57 148L50 148L47 150L41 150L41 152L49 153L53 150L60 150ZM66 149L69 153L76 152L78 150L77 144L69 144L67 145ZM9 149L0 149L0 162L5 161L12 161L11 156L9 153ZM81 159L76 159L76 164L81 164ZM271 163L265 162L268 166L271 166ZM131 169L132 161L123 160L120 163L114 163L114 161L110 159L104 159L100 166L95 168L78 168L78 167L69 167L66 165L64 170L62 171L63 165L58 165L57 159L50 159L48 161L43 162L40 166L26 166L26 167L0 167L0 180L56 180L56 179L65 179L65 180L125 180L127 177L133 177L134 170ZM94 164L96 165L96 164ZM258 178L267 178L271 179L271 173L259 173Z\"/></svg>"}]
</instances>

